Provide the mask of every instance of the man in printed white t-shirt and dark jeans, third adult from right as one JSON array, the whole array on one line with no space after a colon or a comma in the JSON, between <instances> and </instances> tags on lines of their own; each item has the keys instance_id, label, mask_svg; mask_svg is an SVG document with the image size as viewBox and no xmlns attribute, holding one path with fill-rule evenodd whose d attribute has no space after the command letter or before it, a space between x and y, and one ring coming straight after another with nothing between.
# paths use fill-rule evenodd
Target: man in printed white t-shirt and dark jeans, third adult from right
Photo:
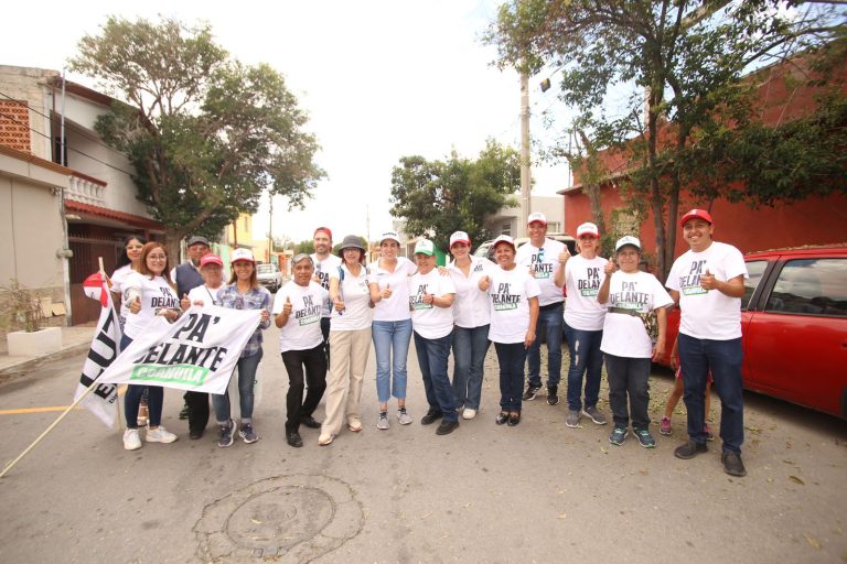
<instances>
[{"instance_id":1,"label":"man in printed white t-shirt and dark jeans, third adult from right","mask_svg":"<svg viewBox=\"0 0 847 564\"><path fill-rule=\"evenodd\" d=\"M598 425L605 425L605 415L597 409L600 398L600 377L603 370L603 321L607 308L597 301L597 292L603 279L603 268L609 262L597 256L600 230L594 224L577 227L579 254L565 264L565 337L570 352L568 368L568 415L565 424L579 426L580 412ZM582 375L586 375L586 399L582 402Z\"/></svg>"}]
</instances>

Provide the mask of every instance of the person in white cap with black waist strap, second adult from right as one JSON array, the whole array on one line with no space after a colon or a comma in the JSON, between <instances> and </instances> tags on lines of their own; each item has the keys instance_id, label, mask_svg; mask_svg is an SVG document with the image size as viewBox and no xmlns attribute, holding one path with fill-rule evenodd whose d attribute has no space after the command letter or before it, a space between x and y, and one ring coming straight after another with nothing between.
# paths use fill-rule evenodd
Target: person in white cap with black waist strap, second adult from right
<instances>
[{"instance_id":1,"label":"person in white cap with black waist strap, second adult from right","mask_svg":"<svg viewBox=\"0 0 847 564\"><path fill-rule=\"evenodd\" d=\"M632 430L639 444L653 448L656 441L650 434L647 414L650 366L651 360L657 360L664 354L665 307L673 300L656 276L639 270L641 242L637 238L622 237L614 248L620 271L614 262L607 263L603 269L605 278L597 293L597 301L608 304L600 349L605 355L609 405L614 420L609 442L623 444L632 419ZM658 324L655 341L641 318L641 314L650 312L655 312Z\"/></svg>"}]
</instances>

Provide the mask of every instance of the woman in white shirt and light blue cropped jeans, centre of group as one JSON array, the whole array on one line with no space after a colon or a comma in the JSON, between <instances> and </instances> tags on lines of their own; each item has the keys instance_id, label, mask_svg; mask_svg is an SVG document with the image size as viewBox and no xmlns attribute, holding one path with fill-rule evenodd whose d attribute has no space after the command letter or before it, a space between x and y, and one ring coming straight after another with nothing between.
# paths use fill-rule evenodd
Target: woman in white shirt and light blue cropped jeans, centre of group
<instances>
[{"instance_id":1,"label":"woman in white shirt and light blue cropped jeans, centre of group","mask_svg":"<svg viewBox=\"0 0 847 564\"><path fill-rule=\"evenodd\" d=\"M409 278L417 267L400 251L400 237L386 231L379 240L380 257L372 263L367 282L374 302L372 335L376 354L376 394L379 401L379 419L376 427L386 430L388 399L397 398L397 419L400 425L411 423L406 411L406 358L411 340L409 313Z\"/></svg>"}]
</instances>

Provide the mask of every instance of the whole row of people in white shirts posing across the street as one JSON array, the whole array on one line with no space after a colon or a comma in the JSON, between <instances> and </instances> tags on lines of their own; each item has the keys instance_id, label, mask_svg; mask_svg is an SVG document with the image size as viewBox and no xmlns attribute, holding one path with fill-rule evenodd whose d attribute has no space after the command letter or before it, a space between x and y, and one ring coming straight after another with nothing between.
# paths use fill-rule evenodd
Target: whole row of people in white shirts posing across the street
<instances>
[{"instance_id":1,"label":"whole row of people in white shirts posing across the street","mask_svg":"<svg viewBox=\"0 0 847 564\"><path fill-rule=\"evenodd\" d=\"M322 446L330 445L344 425L353 433L363 430L360 403L372 343L379 408L376 427L390 427L392 398L396 422L410 424L406 360L412 338L428 403L421 424L440 421L436 434L447 435L459 427L460 417L476 416L483 362L493 343L500 370L495 423L518 425L523 402L534 400L542 389L542 334L548 352L550 405L559 402L562 337L567 341L566 425L578 427L581 416L598 425L607 423L598 409L604 364L613 422L609 441L623 444L631 426L639 444L653 447L647 410L651 361L665 354L666 312L678 304L682 322L671 360L679 366L689 440L675 455L691 458L707 451L711 432L705 422L706 386L714 380L721 399L723 468L743 476L740 297L744 261L737 249L711 239L714 226L707 212L693 209L679 225L689 250L676 260L665 284L640 270L642 247L636 237L620 238L613 258L607 260L599 256L597 226L585 223L577 228L578 254L571 256L564 243L547 238L546 218L535 213L527 221L529 241L516 248L511 237L497 237L493 262L471 254L468 234L453 232L452 260L447 267L437 265L436 248L428 239L418 240L414 261L401 257L400 238L393 231L382 235L379 258L366 265L361 238L345 237L334 256L332 231L319 227L313 235L315 252L293 257L292 278L275 299L258 284L249 250L233 252L232 273L224 283L223 262L210 253L206 239L191 238L190 260L171 271L161 243L131 237L126 246L128 264L116 271L112 290L122 303L122 346L152 316L175 318L192 305L262 312L238 361L240 424L230 416L228 393L212 397L221 447L233 444L236 430L245 443L259 438L253 426L254 384L262 355L261 334L271 319L280 329L279 350L289 377L285 431L293 447L303 445L301 424L320 429ZM139 419L144 397L149 412ZM323 422L314 417L321 399L325 400ZM129 386L125 402L126 448L141 446L143 423L148 442L176 438L160 424L161 388ZM210 416L207 394L186 392L185 402L190 436L200 438ZM661 431L667 430L669 420L667 425L663 420Z\"/></svg>"}]
</instances>

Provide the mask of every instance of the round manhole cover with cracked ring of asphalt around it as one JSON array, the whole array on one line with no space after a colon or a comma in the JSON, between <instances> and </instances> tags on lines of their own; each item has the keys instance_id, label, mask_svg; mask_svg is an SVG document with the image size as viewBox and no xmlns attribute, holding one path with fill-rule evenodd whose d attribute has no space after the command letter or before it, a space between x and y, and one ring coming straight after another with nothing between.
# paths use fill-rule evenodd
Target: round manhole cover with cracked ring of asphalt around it
<instances>
[{"instance_id":1,"label":"round manhole cover with cracked ring of asphalt around it","mask_svg":"<svg viewBox=\"0 0 847 564\"><path fill-rule=\"evenodd\" d=\"M298 475L267 478L210 503L194 532L204 560L304 562L337 549L363 524L347 484Z\"/></svg>"}]
</instances>

